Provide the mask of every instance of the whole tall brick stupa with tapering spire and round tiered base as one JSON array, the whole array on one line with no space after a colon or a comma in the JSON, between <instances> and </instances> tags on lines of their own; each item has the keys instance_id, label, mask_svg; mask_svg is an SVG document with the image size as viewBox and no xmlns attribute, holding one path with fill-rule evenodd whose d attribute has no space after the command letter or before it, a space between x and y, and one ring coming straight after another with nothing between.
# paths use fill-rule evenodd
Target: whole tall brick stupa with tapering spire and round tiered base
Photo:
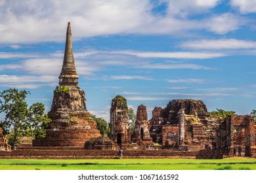
<instances>
[{"instance_id":1,"label":"whole tall brick stupa with tapering spire and round tiered base","mask_svg":"<svg viewBox=\"0 0 256 183\"><path fill-rule=\"evenodd\" d=\"M66 48L60 72L59 86L54 90L53 104L48 113L52 122L45 139L35 139L33 146L84 146L85 141L100 137L96 122L85 105L85 92L78 87L72 50L71 25L68 22Z\"/></svg>"}]
</instances>

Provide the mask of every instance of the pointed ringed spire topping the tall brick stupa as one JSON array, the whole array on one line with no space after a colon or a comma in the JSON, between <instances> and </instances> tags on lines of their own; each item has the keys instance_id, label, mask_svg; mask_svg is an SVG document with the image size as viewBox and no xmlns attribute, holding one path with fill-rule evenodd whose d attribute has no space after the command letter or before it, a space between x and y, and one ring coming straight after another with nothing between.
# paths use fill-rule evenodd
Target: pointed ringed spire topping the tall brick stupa
<instances>
[{"instance_id":1,"label":"pointed ringed spire topping the tall brick stupa","mask_svg":"<svg viewBox=\"0 0 256 183\"><path fill-rule=\"evenodd\" d=\"M60 76L58 77L60 81L58 84L60 86L68 86L68 87L76 87L78 85L77 78L78 75L75 69L75 60L74 54L72 50L72 33L71 33L71 25L68 22L68 29L66 35L66 47L65 54L62 64L62 69Z\"/></svg>"}]
</instances>

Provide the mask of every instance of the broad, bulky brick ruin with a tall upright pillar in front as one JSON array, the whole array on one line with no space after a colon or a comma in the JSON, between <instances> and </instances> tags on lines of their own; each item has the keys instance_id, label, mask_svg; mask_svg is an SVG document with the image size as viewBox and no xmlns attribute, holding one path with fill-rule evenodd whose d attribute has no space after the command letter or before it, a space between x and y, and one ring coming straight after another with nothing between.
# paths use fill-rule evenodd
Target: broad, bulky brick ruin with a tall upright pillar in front
<instances>
[{"instance_id":1,"label":"broad, bulky brick ruin with a tall upright pillar in front","mask_svg":"<svg viewBox=\"0 0 256 183\"><path fill-rule=\"evenodd\" d=\"M154 108L150 136L163 148L196 150L211 145L219 124L210 118L202 101L173 100L165 108Z\"/></svg>"}]
</instances>

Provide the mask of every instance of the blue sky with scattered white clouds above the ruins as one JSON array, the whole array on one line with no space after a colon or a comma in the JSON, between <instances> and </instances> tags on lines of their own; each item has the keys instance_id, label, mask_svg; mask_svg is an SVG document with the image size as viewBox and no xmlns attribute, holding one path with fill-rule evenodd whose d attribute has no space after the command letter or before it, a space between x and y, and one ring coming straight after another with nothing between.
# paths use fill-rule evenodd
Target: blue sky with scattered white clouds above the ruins
<instances>
[{"instance_id":1,"label":"blue sky with scattered white clouds above the ruins","mask_svg":"<svg viewBox=\"0 0 256 183\"><path fill-rule=\"evenodd\" d=\"M111 99L136 111L173 99L256 109L255 0L0 0L0 91L29 90L51 108L71 22L87 109L109 121Z\"/></svg>"}]
</instances>

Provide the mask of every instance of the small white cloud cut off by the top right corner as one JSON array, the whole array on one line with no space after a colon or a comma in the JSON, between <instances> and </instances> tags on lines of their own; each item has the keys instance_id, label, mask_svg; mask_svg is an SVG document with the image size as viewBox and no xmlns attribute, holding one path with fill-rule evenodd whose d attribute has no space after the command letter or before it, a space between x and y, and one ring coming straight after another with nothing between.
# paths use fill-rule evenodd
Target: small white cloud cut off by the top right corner
<instances>
[{"instance_id":1,"label":"small white cloud cut off by the top right corner","mask_svg":"<svg viewBox=\"0 0 256 183\"><path fill-rule=\"evenodd\" d=\"M255 0L231 0L230 5L238 8L242 14L256 12Z\"/></svg>"}]
</instances>

